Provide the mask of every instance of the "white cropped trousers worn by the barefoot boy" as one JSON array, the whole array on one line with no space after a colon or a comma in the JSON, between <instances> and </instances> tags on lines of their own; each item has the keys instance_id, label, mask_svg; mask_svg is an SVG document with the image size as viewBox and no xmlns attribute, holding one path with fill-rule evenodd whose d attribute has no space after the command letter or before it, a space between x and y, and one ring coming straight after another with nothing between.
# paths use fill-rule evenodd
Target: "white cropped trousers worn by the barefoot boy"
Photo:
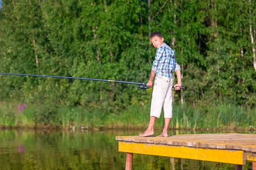
<instances>
[{"instance_id":1,"label":"white cropped trousers worn by the barefoot boy","mask_svg":"<svg viewBox=\"0 0 256 170\"><path fill-rule=\"evenodd\" d=\"M152 93L150 116L160 117L162 108L164 118L172 118L173 79L157 75Z\"/></svg>"}]
</instances>

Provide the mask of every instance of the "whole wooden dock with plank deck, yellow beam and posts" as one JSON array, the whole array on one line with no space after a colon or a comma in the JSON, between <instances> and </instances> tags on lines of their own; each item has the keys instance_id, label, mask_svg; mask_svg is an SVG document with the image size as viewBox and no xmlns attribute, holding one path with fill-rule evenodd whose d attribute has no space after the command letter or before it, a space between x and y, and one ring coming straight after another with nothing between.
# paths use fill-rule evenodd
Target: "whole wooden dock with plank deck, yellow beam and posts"
<instances>
[{"instance_id":1,"label":"whole wooden dock with plank deck, yellow beam and posts","mask_svg":"<svg viewBox=\"0 0 256 170\"><path fill-rule=\"evenodd\" d=\"M119 136L118 151L126 152L126 169L131 169L133 154L148 154L236 164L246 161L256 170L256 134L183 134L168 137Z\"/></svg>"}]
</instances>

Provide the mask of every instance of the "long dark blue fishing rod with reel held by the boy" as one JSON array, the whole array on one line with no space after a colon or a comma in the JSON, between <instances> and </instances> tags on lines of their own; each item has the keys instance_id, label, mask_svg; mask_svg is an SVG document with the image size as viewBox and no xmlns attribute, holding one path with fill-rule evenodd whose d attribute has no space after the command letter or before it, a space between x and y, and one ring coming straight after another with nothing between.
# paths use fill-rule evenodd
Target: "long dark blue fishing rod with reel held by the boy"
<instances>
[{"instance_id":1,"label":"long dark blue fishing rod with reel held by the boy","mask_svg":"<svg viewBox=\"0 0 256 170\"><path fill-rule=\"evenodd\" d=\"M126 81L119 81L119 80L106 80L106 79L92 79L92 78L81 78L81 77L72 77L72 76L56 76L56 75L39 75L39 74L15 74L15 73L0 73L2 75L23 75L23 76L40 76L42 78L51 77L51 78L65 78L65 79L80 79L80 80L94 80L94 81L101 81L101 82L114 82L114 83L128 83L128 84L138 84L140 90L144 90L147 95L146 89L147 83L139 83L139 82L126 82ZM154 86L154 84L153 84ZM175 88L172 86L172 88ZM185 87L180 87L181 89L185 89Z\"/></svg>"}]
</instances>

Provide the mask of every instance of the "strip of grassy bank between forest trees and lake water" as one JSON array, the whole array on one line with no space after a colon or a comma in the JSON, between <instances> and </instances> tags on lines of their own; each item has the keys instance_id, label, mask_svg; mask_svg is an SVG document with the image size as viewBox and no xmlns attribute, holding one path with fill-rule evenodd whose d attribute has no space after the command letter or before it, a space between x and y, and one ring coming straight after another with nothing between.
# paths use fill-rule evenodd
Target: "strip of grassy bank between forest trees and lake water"
<instances>
[{"instance_id":1,"label":"strip of grassy bank between forest trees and lake water","mask_svg":"<svg viewBox=\"0 0 256 170\"><path fill-rule=\"evenodd\" d=\"M102 109L65 107L63 105L30 105L0 103L1 128L146 128L150 116L150 102L137 102L122 112L106 113ZM232 104L198 105L174 104L172 129L229 129L256 127L255 108ZM163 114L155 128L162 128ZM251 127L250 129L254 129Z\"/></svg>"}]
</instances>

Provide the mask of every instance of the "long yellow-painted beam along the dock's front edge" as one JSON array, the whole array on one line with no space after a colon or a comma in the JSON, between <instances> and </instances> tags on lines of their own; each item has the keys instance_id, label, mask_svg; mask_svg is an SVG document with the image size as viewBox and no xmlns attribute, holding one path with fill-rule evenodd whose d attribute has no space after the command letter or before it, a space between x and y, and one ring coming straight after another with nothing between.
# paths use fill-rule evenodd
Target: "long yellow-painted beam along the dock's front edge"
<instances>
[{"instance_id":1,"label":"long yellow-painted beam along the dock's front edge","mask_svg":"<svg viewBox=\"0 0 256 170\"><path fill-rule=\"evenodd\" d=\"M121 142L118 151L244 165L243 151Z\"/></svg>"}]
</instances>

